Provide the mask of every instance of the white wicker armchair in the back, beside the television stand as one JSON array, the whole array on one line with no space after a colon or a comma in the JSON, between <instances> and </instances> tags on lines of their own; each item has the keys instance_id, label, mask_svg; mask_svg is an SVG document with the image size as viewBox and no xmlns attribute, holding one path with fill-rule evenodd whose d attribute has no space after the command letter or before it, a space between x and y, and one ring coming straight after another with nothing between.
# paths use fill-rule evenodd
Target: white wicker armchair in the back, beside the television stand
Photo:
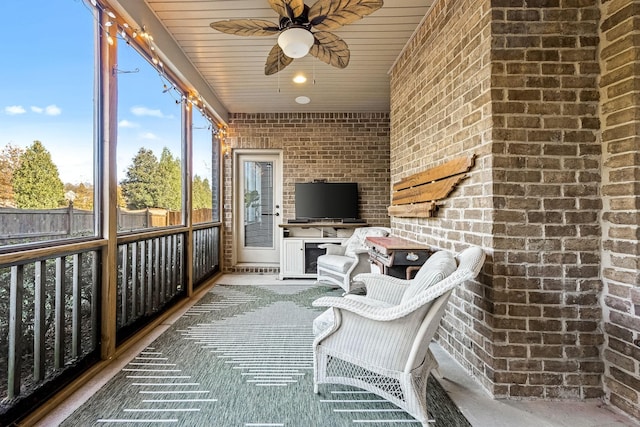
<instances>
[{"instance_id":1,"label":"white wicker armchair in the back, beside the television stand","mask_svg":"<svg viewBox=\"0 0 640 427\"><path fill-rule=\"evenodd\" d=\"M360 273L370 273L369 250L365 239L369 236L386 237L390 230L386 227L360 227L353 231L351 237L341 244L325 243L320 248L326 249L324 255L318 257L318 281L340 286L350 292L353 277Z\"/></svg>"}]
</instances>

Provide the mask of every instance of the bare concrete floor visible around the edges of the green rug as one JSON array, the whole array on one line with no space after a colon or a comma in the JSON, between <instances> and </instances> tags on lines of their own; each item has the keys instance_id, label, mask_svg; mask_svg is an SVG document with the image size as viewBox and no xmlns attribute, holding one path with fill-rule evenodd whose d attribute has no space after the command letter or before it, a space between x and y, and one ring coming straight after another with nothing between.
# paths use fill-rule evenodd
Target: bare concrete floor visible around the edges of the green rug
<instances>
[{"instance_id":1,"label":"bare concrete floor visible around the edges of the green rug","mask_svg":"<svg viewBox=\"0 0 640 427\"><path fill-rule=\"evenodd\" d=\"M219 283L256 285L268 282L282 284L274 275L223 275ZM300 284L300 280L284 283ZM307 281L306 283L309 283ZM193 302L195 303L195 301ZM133 357L155 340L189 307L167 319L151 334L144 337L122 357L115 360L100 375L74 393L63 404L51 411L47 417L35 424L51 427L60 424L77 407L119 372ZM627 416L605 405L600 400L586 402L540 401L540 400L495 400L439 345L433 343L432 351L440 365L438 378L462 413L474 427L632 427L640 426Z\"/></svg>"}]
</instances>

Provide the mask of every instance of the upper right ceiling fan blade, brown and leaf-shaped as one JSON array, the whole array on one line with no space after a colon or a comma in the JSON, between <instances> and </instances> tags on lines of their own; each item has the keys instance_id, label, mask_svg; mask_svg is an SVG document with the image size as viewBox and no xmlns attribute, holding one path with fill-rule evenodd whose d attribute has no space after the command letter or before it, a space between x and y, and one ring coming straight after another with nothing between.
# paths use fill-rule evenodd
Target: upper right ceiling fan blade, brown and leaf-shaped
<instances>
[{"instance_id":1,"label":"upper right ceiling fan blade, brown and leaf-shaped","mask_svg":"<svg viewBox=\"0 0 640 427\"><path fill-rule=\"evenodd\" d=\"M318 0L309 9L309 22L316 30L335 30L375 12L382 5L382 0Z\"/></svg>"}]
</instances>

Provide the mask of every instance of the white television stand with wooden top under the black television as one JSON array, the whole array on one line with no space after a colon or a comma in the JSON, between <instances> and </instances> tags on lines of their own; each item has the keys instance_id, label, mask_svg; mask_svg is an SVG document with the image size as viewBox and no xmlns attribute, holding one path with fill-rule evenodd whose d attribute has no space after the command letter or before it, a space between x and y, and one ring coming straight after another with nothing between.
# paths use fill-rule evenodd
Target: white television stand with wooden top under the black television
<instances>
[{"instance_id":1,"label":"white television stand with wooden top under the black television","mask_svg":"<svg viewBox=\"0 0 640 427\"><path fill-rule=\"evenodd\" d=\"M366 226L366 222L307 222L279 224L280 234L280 279L315 279L317 259L326 250L324 243L340 244L348 239L353 230Z\"/></svg>"}]
</instances>

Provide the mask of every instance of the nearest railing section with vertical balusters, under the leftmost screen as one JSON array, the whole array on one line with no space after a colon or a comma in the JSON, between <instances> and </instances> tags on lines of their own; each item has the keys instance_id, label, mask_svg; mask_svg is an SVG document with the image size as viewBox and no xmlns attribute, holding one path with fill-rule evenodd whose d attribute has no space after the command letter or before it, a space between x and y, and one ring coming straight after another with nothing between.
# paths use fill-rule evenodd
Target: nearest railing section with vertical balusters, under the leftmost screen
<instances>
[{"instance_id":1,"label":"nearest railing section with vertical balusters, under the leftmost screen","mask_svg":"<svg viewBox=\"0 0 640 427\"><path fill-rule=\"evenodd\" d=\"M97 358L99 245L73 245L50 256L35 251L32 259L0 265L3 405L89 355Z\"/></svg>"}]
</instances>

